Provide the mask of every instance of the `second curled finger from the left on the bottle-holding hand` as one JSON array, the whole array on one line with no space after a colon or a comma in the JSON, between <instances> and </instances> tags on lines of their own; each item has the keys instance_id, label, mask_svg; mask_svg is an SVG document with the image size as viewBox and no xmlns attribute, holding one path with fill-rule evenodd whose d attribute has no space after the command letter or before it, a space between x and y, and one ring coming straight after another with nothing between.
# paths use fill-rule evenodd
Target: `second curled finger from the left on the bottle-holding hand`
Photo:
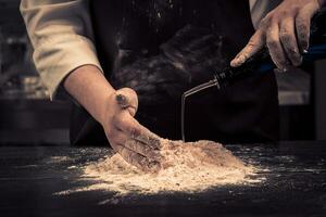
<instances>
[{"instance_id":1,"label":"second curled finger from the left on the bottle-holding hand","mask_svg":"<svg viewBox=\"0 0 326 217\"><path fill-rule=\"evenodd\" d=\"M280 23L279 38L287 58L294 66L299 66L302 62L302 56L299 52L293 17L286 17Z\"/></svg>"}]
</instances>

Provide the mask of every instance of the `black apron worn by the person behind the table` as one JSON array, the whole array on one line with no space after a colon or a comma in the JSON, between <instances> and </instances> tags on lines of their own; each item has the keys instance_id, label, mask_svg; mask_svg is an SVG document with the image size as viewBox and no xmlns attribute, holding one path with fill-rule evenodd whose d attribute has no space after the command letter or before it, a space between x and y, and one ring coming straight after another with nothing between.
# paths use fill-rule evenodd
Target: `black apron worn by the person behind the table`
<instances>
[{"instance_id":1,"label":"black apron worn by the person behind the table","mask_svg":"<svg viewBox=\"0 0 326 217\"><path fill-rule=\"evenodd\" d=\"M248 1L92 0L96 47L114 88L139 98L136 118L161 137L180 139L180 97L212 79L254 33ZM254 74L188 99L186 139L262 142L278 139L274 74ZM102 127L82 107L72 116L74 144L106 144Z\"/></svg>"}]
</instances>

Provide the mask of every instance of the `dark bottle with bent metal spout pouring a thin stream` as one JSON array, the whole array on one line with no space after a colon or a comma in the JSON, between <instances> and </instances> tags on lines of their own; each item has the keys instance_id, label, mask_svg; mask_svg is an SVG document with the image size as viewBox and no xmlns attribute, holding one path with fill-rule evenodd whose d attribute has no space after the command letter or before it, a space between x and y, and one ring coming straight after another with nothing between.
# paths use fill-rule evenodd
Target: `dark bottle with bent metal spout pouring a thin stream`
<instances>
[{"instance_id":1,"label":"dark bottle with bent metal spout pouring a thin stream","mask_svg":"<svg viewBox=\"0 0 326 217\"><path fill-rule=\"evenodd\" d=\"M326 58L326 8L317 12L311 22L311 38L310 49L308 52L302 53L303 62L315 61ZM248 76L252 76L256 73L267 73L275 68L268 50L262 49L254 56L250 58L246 63L239 67L227 67L222 72L215 72L212 80L201 84L184 92L181 95L181 137L185 138L185 112L186 112L186 99L195 93L201 92L211 87L217 87L217 89L226 88L237 80L241 80Z\"/></svg>"}]
</instances>

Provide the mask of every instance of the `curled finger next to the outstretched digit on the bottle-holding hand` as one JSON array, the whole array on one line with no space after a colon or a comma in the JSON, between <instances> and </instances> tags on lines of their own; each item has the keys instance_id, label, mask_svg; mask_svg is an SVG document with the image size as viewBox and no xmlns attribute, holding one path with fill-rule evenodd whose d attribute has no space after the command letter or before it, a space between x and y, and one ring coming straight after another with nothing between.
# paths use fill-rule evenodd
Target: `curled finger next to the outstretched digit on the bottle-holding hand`
<instances>
[{"instance_id":1,"label":"curled finger next to the outstretched digit on the bottle-holding hand","mask_svg":"<svg viewBox=\"0 0 326 217\"><path fill-rule=\"evenodd\" d=\"M268 27L266 34L266 44L275 65L281 71L287 71L287 66L289 64L279 41L279 29L277 24Z\"/></svg>"}]
</instances>

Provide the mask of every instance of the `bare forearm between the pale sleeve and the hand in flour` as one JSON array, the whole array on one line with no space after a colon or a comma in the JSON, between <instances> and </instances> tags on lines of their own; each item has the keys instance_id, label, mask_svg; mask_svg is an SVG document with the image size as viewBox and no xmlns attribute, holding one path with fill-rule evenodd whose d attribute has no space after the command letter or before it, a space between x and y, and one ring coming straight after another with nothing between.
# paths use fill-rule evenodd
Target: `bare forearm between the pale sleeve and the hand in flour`
<instances>
[{"instance_id":1,"label":"bare forearm between the pale sleeve and the hand in flour","mask_svg":"<svg viewBox=\"0 0 326 217\"><path fill-rule=\"evenodd\" d=\"M100 69L84 65L72 72L64 80L66 91L80 103L99 123L103 123L105 103L115 92Z\"/></svg>"}]
</instances>

